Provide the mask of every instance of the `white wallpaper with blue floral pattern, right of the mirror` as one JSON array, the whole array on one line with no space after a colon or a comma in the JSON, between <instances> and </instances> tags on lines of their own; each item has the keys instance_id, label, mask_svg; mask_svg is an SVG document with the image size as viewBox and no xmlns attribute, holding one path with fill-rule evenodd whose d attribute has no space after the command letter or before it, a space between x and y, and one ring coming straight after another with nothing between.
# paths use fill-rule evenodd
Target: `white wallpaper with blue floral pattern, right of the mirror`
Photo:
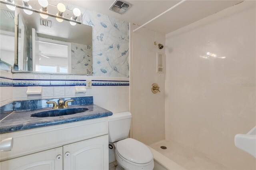
<instances>
[{"instance_id":1,"label":"white wallpaper with blue floral pattern, right of the mirror","mask_svg":"<svg viewBox=\"0 0 256 170\"><path fill-rule=\"evenodd\" d=\"M129 77L129 23L89 9L82 23L93 27L93 75Z\"/></svg>"}]
</instances>

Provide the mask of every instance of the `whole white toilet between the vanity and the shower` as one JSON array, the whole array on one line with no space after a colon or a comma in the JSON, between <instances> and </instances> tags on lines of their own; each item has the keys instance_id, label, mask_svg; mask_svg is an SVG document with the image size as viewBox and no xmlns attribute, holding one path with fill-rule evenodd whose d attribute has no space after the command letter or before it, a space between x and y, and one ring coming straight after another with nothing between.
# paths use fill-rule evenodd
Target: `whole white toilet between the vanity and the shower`
<instances>
[{"instance_id":1,"label":"whole white toilet between the vanity and the shower","mask_svg":"<svg viewBox=\"0 0 256 170\"><path fill-rule=\"evenodd\" d=\"M127 138L131 119L130 112L115 113L108 117L108 140L116 147L117 169L121 166L125 170L152 170L154 159L148 146Z\"/></svg>"}]
</instances>

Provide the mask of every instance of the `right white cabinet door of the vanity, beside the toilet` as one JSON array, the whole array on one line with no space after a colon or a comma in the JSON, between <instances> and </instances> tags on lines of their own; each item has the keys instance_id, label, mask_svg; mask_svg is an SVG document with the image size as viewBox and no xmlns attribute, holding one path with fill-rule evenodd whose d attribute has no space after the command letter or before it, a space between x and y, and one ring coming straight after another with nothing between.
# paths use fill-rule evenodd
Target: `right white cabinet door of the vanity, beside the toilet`
<instances>
[{"instance_id":1,"label":"right white cabinet door of the vanity, beside the toilet","mask_svg":"<svg viewBox=\"0 0 256 170\"><path fill-rule=\"evenodd\" d=\"M108 135L63 146L64 170L108 170Z\"/></svg>"}]
</instances>

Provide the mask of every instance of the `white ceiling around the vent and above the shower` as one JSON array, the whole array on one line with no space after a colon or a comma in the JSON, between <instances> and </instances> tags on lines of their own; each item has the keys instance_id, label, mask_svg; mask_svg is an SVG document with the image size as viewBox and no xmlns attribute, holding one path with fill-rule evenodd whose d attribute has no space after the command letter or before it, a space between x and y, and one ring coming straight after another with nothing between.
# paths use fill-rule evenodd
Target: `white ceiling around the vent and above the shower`
<instances>
[{"instance_id":1,"label":"white ceiling around the vent and above the shower","mask_svg":"<svg viewBox=\"0 0 256 170\"><path fill-rule=\"evenodd\" d=\"M132 7L122 15L109 10L114 0L68 0L67 2L138 25L148 22L180 2L180 0L126 1L130 2ZM187 0L145 27L167 34L240 2L242 0Z\"/></svg>"}]
</instances>

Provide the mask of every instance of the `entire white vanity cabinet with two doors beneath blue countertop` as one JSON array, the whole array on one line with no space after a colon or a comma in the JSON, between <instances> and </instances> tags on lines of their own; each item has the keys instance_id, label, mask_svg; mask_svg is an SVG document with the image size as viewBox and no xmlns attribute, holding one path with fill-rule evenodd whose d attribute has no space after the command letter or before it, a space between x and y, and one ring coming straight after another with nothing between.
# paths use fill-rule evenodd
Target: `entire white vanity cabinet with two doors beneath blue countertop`
<instances>
[{"instance_id":1,"label":"entire white vanity cabinet with two doors beneath blue countertop","mask_svg":"<svg viewBox=\"0 0 256 170\"><path fill-rule=\"evenodd\" d=\"M1 134L1 170L108 170L108 118Z\"/></svg>"}]
</instances>

